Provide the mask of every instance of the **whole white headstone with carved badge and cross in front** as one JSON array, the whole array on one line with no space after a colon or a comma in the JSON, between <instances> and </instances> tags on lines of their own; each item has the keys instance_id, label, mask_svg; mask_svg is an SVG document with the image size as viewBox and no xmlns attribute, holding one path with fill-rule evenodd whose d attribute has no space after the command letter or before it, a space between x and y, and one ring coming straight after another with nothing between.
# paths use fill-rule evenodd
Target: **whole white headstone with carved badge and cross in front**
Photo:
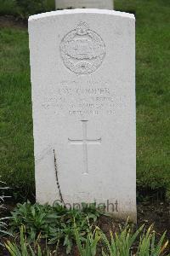
<instances>
[{"instance_id":1,"label":"whole white headstone with carved badge and cross in front","mask_svg":"<svg viewBox=\"0 0 170 256\"><path fill-rule=\"evenodd\" d=\"M31 16L29 34L37 201L135 220L134 16L55 11Z\"/></svg>"}]
</instances>

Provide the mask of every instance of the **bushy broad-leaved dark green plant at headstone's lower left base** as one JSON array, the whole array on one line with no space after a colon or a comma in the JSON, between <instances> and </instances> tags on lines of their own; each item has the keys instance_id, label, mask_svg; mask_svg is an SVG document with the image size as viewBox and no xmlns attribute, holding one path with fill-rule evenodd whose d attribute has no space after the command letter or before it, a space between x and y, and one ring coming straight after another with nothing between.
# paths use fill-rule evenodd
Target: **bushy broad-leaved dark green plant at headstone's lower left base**
<instances>
[{"instance_id":1,"label":"bushy broad-leaved dark green plant at headstone's lower left base","mask_svg":"<svg viewBox=\"0 0 170 256\"><path fill-rule=\"evenodd\" d=\"M89 223L99 217L98 210L92 206L84 209L70 209L56 204L54 207L39 204L31 205L25 202L18 204L11 212L12 218L9 221L11 231L15 234L19 231L21 225L26 227L26 236L28 241L36 241L37 236L41 234L42 239L47 239L48 244L56 244L58 241L66 247L66 253L71 253L71 248L75 242L74 222L77 224L79 236L82 239L89 232Z\"/></svg>"}]
</instances>

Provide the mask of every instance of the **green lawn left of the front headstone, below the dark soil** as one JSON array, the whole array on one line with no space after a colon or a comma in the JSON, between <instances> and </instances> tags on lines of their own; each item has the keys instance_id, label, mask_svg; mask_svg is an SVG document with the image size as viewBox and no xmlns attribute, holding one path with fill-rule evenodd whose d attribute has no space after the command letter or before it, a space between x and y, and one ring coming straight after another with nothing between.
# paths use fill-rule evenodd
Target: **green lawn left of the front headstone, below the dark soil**
<instances>
[{"instance_id":1,"label":"green lawn left of the front headstone, below the dark soil","mask_svg":"<svg viewBox=\"0 0 170 256\"><path fill-rule=\"evenodd\" d=\"M34 188L31 82L26 29L0 31L0 176L9 186Z\"/></svg>"}]
</instances>

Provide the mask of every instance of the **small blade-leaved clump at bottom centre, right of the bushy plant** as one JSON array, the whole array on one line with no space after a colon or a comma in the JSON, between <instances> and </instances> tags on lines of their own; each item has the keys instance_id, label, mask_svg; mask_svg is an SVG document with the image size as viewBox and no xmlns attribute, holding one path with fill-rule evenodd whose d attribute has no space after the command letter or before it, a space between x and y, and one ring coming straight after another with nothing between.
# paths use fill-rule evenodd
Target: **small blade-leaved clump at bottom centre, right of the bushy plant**
<instances>
[{"instance_id":1,"label":"small blade-leaved clump at bottom centre, right of the bushy plant","mask_svg":"<svg viewBox=\"0 0 170 256\"><path fill-rule=\"evenodd\" d=\"M76 236L78 251L81 256L96 255L97 246L102 236L99 228L96 227L94 232L90 231L87 237L82 241L82 236L80 236L77 229L77 225L75 224L75 236Z\"/></svg>"}]
</instances>

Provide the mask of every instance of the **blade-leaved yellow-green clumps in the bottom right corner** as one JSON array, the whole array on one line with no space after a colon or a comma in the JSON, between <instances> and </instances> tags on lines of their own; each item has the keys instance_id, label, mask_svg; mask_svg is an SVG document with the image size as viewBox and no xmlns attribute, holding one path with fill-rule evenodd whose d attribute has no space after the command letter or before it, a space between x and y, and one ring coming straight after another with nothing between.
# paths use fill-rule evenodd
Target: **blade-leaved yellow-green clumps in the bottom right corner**
<instances>
[{"instance_id":1,"label":"blade-leaved yellow-green clumps in the bottom right corner","mask_svg":"<svg viewBox=\"0 0 170 256\"><path fill-rule=\"evenodd\" d=\"M161 239L156 243L156 232L152 230L153 225L148 230L144 230L142 225L139 230L132 232L127 225L120 234L111 233L111 241L102 233L102 240L105 243L102 256L159 256L167 247L168 241L163 243L166 233L161 236ZM142 230L144 232L141 234ZM140 241L137 253L133 254L133 246L137 243L136 239L140 234Z\"/></svg>"}]
</instances>

